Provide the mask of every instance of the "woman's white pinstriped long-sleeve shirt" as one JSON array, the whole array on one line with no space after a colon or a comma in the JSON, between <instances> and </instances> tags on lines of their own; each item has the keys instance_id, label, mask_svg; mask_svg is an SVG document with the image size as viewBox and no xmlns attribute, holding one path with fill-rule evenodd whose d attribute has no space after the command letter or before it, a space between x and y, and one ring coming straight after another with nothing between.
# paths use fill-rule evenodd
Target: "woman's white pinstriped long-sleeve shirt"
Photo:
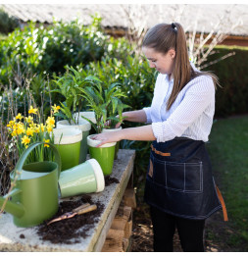
<instances>
[{"instance_id":1,"label":"woman's white pinstriped long-sleeve shirt","mask_svg":"<svg viewBox=\"0 0 248 256\"><path fill-rule=\"evenodd\" d=\"M172 93L174 79L159 74L152 105L144 108L147 123L152 124L157 142L174 137L188 137L208 141L215 113L215 86L209 76L195 77L177 95L171 109L167 101Z\"/></svg>"}]
</instances>

